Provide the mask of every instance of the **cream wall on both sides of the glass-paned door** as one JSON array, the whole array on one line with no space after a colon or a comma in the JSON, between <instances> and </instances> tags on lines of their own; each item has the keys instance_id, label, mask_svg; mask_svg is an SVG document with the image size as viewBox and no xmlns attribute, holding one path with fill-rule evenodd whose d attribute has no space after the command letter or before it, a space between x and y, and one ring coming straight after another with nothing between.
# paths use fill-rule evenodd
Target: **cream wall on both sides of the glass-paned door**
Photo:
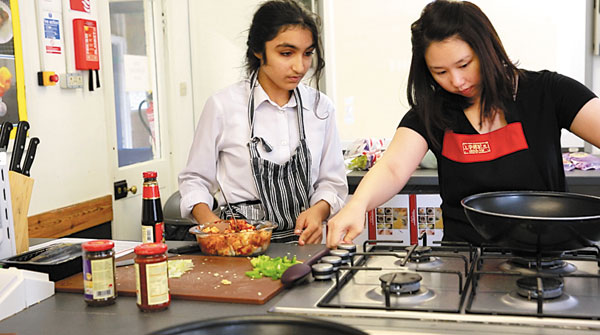
<instances>
[{"instance_id":1,"label":"cream wall on both sides of the glass-paned door","mask_svg":"<svg viewBox=\"0 0 600 335\"><path fill-rule=\"evenodd\" d=\"M70 13L68 2L63 0L65 15ZM161 186L176 188L206 98L243 77L246 30L258 3L194 0L188 7L187 0L164 2L172 175ZM92 0L95 10L106 11L107 6L107 0ZM34 1L19 0L19 8L30 137L41 140L31 171L35 185L29 215L112 194L110 164L115 160L110 155L116 151L107 145L111 118L107 121L106 115L114 113L114 106L105 102L102 88L89 92L37 85L40 58ZM109 22L100 19L98 26L109 29ZM110 44L102 34L99 38L101 45ZM65 43L71 43L70 36ZM112 80L103 65L106 57L110 55L100 58L101 83Z\"/></svg>"}]
</instances>

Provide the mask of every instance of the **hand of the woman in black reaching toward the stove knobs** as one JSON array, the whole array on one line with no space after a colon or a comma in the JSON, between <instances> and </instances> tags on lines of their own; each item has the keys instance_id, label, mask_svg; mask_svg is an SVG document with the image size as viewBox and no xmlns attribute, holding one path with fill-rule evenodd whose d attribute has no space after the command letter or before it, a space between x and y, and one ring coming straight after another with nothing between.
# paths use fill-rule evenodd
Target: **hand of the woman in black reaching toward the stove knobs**
<instances>
[{"instance_id":1,"label":"hand of the woman in black reaching toward the stove knobs","mask_svg":"<svg viewBox=\"0 0 600 335\"><path fill-rule=\"evenodd\" d=\"M340 242L352 243L364 228L365 213L364 207L351 202L342 208L327 223L327 247L334 249Z\"/></svg>"}]
</instances>

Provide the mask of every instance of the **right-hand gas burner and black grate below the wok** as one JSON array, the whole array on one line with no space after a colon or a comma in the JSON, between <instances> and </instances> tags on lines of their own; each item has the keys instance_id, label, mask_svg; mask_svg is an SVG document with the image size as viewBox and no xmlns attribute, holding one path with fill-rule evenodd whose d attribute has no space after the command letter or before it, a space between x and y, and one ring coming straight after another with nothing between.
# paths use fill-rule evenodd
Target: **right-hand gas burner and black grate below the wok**
<instances>
[{"instance_id":1,"label":"right-hand gas burner and black grate below the wok","mask_svg":"<svg viewBox=\"0 0 600 335\"><path fill-rule=\"evenodd\" d=\"M600 249L560 255L482 247L469 276L465 311L475 314L599 319Z\"/></svg>"}]
</instances>

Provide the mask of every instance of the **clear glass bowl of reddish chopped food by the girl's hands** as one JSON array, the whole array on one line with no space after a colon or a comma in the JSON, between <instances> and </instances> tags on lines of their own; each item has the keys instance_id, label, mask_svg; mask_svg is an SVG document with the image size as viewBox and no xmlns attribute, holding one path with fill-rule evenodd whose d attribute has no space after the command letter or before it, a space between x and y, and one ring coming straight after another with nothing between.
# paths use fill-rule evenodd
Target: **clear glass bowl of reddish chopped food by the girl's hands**
<instances>
[{"instance_id":1,"label":"clear glass bowl of reddish chopped food by the girl's hands","mask_svg":"<svg viewBox=\"0 0 600 335\"><path fill-rule=\"evenodd\" d=\"M219 220L190 228L202 253L216 256L254 256L267 251L273 229L269 221Z\"/></svg>"}]
</instances>

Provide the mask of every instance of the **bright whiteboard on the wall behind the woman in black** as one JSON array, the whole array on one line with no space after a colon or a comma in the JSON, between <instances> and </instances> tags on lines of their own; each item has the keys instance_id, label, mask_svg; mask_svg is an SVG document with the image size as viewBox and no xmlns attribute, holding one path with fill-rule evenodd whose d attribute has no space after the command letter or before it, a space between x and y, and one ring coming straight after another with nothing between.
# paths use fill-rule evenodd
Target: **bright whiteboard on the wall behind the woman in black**
<instances>
[{"instance_id":1,"label":"bright whiteboard on the wall behind the woman in black","mask_svg":"<svg viewBox=\"0 0 600 335\"><path fill-rule=\"evenodd\" d=\"M391 138L409 108L410 25L429 0L323 2L325 34L334 38L325 48L327 66L335 66L328 69L336 85L328 93L338 109L342 140ZM585 81L587 0L473 2L521 67L551 69ZM330 77L327 83L329 90Z\"/></svg>"}]
</instances>

